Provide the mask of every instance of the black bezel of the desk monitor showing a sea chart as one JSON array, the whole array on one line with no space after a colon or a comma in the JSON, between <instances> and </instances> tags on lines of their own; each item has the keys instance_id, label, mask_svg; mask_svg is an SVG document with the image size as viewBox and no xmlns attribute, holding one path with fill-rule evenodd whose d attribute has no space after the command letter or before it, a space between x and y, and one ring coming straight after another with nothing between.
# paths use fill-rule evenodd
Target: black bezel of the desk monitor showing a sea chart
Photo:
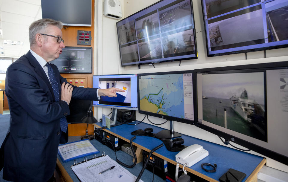
<instances>
[{"instance_id":1,"label":"black bezel of the desk monitor showing a sea chart","mask_svg":"<svg viewBox=\"0 0 288 182\"><path fill-rule=\"evenodd\" d=\"M179 117L173 117L173 116L167 116L163 114L157 114L157 113L152 113L149 111L143 111L141 110L140 107L140 90L139 90L139 76L146 76L146 75L163 75L163 74L185 74L185 73L191 73L192 74L192 85L193 85L193 112L194 112L194 120L187 120ZM197 118L197 109L195 106L196 104L196 98L195 98L195 86L194 86L195 78L194 78L194 71L193 70L185 70L185 71L167 71L167 72L156 72L156 73L143 73L143 74L137 74L137 92L138 92L138 112L140 114L146 114L148 116L154 116L154 117L159 117L163 118L166 120L171 120L171 121L177 121L181 123L186 123L190 125L195 125L195 118Z\"/></svg>"}]
</instances>

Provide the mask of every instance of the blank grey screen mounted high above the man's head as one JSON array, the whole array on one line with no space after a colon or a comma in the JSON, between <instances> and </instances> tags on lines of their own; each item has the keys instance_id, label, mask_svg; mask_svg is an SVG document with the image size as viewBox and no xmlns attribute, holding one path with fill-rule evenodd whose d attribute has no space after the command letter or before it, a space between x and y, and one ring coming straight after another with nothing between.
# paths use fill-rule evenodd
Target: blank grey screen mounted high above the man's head
<instances>
[{"instance_id":1,"label":"blank grey screen mounted high above the man's head","mask_svg":"<svg viewBox=\"0 0 288 182\"><path fill-rule=\"evenodd\" d=\"M91 27L91 7L91 0L41 0L42 18L59 20L69 26Z\"/></svg>"}]
</instances>

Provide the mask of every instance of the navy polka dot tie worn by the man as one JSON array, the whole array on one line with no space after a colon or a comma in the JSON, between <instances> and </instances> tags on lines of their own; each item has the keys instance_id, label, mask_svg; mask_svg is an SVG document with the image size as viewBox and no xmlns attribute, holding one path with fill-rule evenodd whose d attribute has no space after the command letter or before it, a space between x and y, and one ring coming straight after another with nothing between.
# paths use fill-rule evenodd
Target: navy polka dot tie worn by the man
<instances>
[{"instance_id":1,"label":"navy polka dot tie worn by the man","mask_svg":"<svg viewBox=\"0 0 288 182\"><path fill-rule=\"evenodd\" d=\"M58 90L58 82L56 80L54 71L50 65L49 62L47 62L47 64L45 65L48 68L48 76L52 85L52 89L53 89L53 93L55 96L55 101L58 102L59 101L59 90ZM66 120L66 117L61 117L60 118L60 129L61 131L65 132L67 131L67 127L68 127L68 123Z\"/></svg>"}]
</instances>

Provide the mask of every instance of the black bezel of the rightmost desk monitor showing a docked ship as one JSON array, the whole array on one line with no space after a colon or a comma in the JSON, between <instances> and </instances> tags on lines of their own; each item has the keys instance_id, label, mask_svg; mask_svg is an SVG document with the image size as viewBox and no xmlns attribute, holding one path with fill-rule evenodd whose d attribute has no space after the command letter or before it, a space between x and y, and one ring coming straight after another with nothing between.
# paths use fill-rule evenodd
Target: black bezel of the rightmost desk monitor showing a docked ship
<instances>
[{"instance_id":1,"label":"black bezel of the rightmost desk monitor showing a docked ship","mask_svg":"<svg viewBox=\"0 0 288 182\"><path fill-rule=\"evenodd\" d=\"M215 67L215 68L202 68L194 70L194 78L195 78L195 90L196 90L196 103L198 102L198 94L197 94L197 73L199 72L213 72L213 71L237 71L237 70L255 70L255 69L267 69L267 68L278 68L278 67L288 67L288 61L283 62L269 62L269 63L259 63L259 64L250 64L250 65L236 65L236 66L225 66L225 67ZM265 95L266 97L266 95ZM197 105L197 114L198 114L198 105ZM197 115L198 116L198 115ZM258 152L259 154L265 155L271 159L277 160L281 163L288 165L288 156L284 156L277 152L271 151L270 149L264 148L262 146L251 143L247 140L241 139L239 137L235 137L226 132L214 129L212 127L203 125L198 122L198 117L195 121L195 126L204 129L210 133L213 133L219 137L223 137L225 140L229 140L233 143L237 143L247 149L251 149L254 152Z\"/></svg>"}]
</instances>

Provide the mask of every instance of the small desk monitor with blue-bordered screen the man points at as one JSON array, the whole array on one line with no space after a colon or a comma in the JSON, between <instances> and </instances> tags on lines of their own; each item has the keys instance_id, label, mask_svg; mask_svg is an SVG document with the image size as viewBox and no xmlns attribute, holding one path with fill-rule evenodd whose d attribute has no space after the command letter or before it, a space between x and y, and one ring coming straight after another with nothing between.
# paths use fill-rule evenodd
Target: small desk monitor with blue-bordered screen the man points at
<instances>
[{"instance_id":1,"label":"small desk monitor with blue-bordered screen the man points at","mask_svg":"<svg viewBox=\"0 0 288 182\"><path fill-rule=\"evenodd\" d=\"M93 75L93 88L119 88L117 97L101 96L93 106L137 110L137 74Z\"/></svg>"}]
</instances>

